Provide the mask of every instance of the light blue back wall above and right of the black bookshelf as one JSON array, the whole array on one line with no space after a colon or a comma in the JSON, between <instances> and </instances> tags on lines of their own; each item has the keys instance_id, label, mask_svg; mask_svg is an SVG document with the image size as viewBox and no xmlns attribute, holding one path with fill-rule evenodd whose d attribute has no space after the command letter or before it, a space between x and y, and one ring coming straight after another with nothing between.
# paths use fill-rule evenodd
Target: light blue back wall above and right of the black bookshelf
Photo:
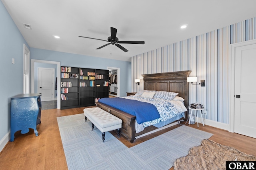
<instances>
[{"instance_id":1,"label":"light blue back wall above and right of the black bookshelf","mask_svg":"<svg viewBox=\"0 0 256 170\"><path fill-rule=\"evenodd\" d=\"M30 48L30 59L58 61L61 66L107 69L120 68L120 97L131 91L131 62Z\"/></svg>"}]
</instances>

